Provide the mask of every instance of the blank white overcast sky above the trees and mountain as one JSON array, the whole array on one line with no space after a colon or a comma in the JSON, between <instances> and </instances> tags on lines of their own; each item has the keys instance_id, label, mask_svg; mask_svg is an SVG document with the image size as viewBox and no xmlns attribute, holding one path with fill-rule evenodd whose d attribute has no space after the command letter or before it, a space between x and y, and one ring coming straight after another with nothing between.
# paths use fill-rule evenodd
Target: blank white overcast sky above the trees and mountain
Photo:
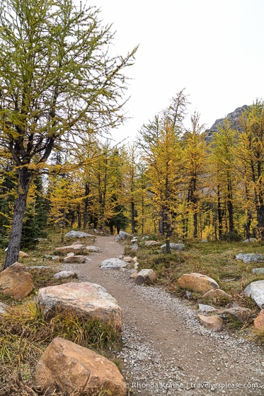
<instances>
[{"instance_id":1,"label":"blank white overcast sky above the trees and mountain","mask_svg":"<svg viewBox=\"0 0 264 396\"><path fill-rule=\"evenodd\" d=\"M125 110L115 140L137 134L142 124L186 88L190 112L202 123L264 98L264 0L90 0L103 25L116 30L114 51L139 44ZM190 118L190 117L189 117ZM187 122L188 123L188 122Z\"/></svg>"}]
</instances>

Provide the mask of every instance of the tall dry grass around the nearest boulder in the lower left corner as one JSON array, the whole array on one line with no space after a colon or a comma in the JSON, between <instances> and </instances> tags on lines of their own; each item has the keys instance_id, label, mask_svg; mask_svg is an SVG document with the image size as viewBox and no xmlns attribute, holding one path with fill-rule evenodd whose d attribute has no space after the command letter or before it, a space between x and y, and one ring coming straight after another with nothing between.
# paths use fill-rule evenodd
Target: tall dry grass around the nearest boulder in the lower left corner
<instances>
[{"instance_id":1,"label":"tall dry grass around the nearest boulder in the lower left corner","mask_svg":"<svg viewBox=\"0 0 264 396\"><path fill-rule=\"evenodd\" d=\"M1 316L0 378L4 384L0 389L1 396L23 395L21 390L17 392L18 383L34 392L32 381L35 365L54 337L68 339L108 358L109 349L121 347L120 336L113 326L97 319L79 318L73 311L57 313L50 322L45 322L42 310L35 301L27 300Z\"/></svg>"}]
</instances>

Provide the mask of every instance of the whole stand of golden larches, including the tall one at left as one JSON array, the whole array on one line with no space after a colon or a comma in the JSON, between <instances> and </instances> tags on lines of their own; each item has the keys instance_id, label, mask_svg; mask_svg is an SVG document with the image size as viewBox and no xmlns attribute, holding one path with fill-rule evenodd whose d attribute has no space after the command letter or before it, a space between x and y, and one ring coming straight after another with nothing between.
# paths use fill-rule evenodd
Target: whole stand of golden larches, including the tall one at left
<instances>
[{"instance_id":1,"label":"whole stand of golden larches, including the tall one at left","mask_svg":"<svg viewBox=\"0 0 264 396\"><path fill-rule=\"evenodd\" d=\"M47 227L159 233L195 240L264 238L264 103L212 139L181 90L116 143L137 47L109 52L98 9L6 0L0 25L0 245L5 267ZM16 15L16 18L14 16ZM191 121L191 127L186 127ZM112 133L112 135L111 135Z\"/></svg>"}]
</instances>

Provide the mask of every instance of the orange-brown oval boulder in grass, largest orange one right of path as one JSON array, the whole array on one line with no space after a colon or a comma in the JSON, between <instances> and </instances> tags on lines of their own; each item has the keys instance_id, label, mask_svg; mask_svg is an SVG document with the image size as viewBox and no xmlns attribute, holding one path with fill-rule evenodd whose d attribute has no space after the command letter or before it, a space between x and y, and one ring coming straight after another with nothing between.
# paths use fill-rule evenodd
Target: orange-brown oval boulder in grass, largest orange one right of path
<instances>
[{"instance_id":1,"label":"orange-brown oval boulder in grass, largest orange one right of path","mask_svg":"<svg viewBox=\"0 0 264 396\"><path fill-rule=\"evenodd\" d=\"M211 289L219 289L219 284L217 284L214 279L210 278L210 276L206 276L203 274L197 274L196 272L192 272L191 274L183 274L178 279L178 286L182 289L188 289L190 291L203 291L206 293Z\"/></svg>"}]
</instances>

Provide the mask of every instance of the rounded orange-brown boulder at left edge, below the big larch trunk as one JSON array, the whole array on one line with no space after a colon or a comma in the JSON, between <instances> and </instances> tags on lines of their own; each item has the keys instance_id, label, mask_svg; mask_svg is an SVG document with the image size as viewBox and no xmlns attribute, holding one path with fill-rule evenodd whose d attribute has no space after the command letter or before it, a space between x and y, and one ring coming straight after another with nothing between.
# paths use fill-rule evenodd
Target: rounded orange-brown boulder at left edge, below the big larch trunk
<instances>
[{"instance_id":1,"label":"rounded orange-brown boulder at left edge, below the big larch trunk","mask_svg":"<svg viewBox=\"0 0 264 396\"><path fill-rule=\"evenodd\" d=\"M20 262L15 262L0 272L1 293L8 294L8 296L12 296L17 300L22 300L33 289L33 276L26 272Z\"/></svg>"}]
</instances>

